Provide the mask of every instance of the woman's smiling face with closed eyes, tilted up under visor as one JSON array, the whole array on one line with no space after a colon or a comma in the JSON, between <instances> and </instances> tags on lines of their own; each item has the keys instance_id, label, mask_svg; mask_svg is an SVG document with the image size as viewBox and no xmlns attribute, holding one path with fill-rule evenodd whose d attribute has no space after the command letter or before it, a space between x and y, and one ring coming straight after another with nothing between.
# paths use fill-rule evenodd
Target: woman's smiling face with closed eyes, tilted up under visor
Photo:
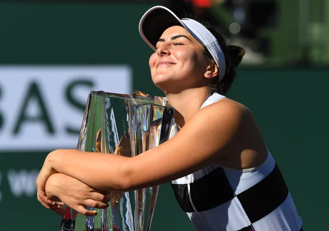
<instances>
[{"instance_id":1,"label":"woman's smiling face with closed eyes, tilted up under visor","mask_svg":"<svg viewBox=\"0 0 329 231\"><path fill-rule=\"evenodd\" d=\"M152 80L164 92L203 84L207 68L203 46L182 26L167 28L150 57Z\"/></svg>"}]
</instances>

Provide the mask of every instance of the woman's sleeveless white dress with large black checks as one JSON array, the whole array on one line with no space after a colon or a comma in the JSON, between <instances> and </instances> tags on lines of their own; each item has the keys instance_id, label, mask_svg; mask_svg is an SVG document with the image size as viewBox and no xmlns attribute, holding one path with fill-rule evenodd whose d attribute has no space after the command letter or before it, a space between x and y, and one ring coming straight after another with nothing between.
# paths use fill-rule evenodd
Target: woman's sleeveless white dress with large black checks
<instances>
[{"instance_id":1,"label":"woman's sleeveless white dress with large black checks","mask_svg":"<svg viewBox=\"0 0 329 231\"><path fill-rule=\"evenodd\" d=\"M222 98L214 93L202 107ZM178 132L177 126L173 129L172 135ZM172 181L171 186L198 231L302 230L302 220L270 152L256 168L236 170L211 164Z\"/></svg>"}]
</instances>

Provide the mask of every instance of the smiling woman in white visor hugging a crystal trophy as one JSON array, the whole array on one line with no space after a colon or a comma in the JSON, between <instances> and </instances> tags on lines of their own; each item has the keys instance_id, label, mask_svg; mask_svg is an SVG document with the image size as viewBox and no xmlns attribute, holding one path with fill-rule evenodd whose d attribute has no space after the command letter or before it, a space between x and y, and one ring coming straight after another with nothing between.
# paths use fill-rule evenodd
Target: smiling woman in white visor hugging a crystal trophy
<instances>
[{"instance_id":1,"label":"smiling woman in white visor hugging a crystal trophy","mask_svg":"<svg viewBox=\"0 0 329 231\"><path fill-rule=\"evenodd\" d=\"M223 96L244 49L227 46L219 34L193 19L180 20L163 6L145 13L140 33L155 50L149 60L152 80L176 110L176 134L133 158L55 150L37 179L38 200L48 209L60 200L93 216L85 207L107 208L107 192L171 181L197 230L302 230L251 112Z\"/></svg>"}]
</instances>

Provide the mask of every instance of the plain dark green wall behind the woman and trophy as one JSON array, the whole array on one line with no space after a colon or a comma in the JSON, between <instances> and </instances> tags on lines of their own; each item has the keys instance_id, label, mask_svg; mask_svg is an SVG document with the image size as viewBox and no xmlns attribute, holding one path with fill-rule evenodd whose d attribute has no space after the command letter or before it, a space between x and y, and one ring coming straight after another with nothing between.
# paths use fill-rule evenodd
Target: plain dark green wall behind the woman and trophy
<instances>
[{"instance_id":1,"label":"plain dark green wall behind the woman and trophy","mask_svg":"<svg viewBox=\"0 0 329 231\"><path fill-rule=\"evenodd\" d=\"M0 3L0 64L130 64L133 88L161 95L149 73L152 50L138 31L140 17L153 5ZM298 55L285 47L289 57ZM328 68L242 65L229 92L258 121L306 231L328 227L328 76ZM3 175L9 169L40 169L49 151L0 154L1 230L58 230L60 217L35 197L13 197ZM193 230L169 184L160 188L152 229Z\"/></svg>"}]
</instances>

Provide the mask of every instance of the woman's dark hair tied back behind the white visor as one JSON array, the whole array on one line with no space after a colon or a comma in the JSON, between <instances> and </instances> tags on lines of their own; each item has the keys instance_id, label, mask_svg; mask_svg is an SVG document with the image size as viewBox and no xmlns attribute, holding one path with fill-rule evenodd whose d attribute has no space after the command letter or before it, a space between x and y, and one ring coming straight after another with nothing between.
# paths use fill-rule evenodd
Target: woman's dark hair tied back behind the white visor
<instances>
[{"instance_id":1,"label":"woman's dark hair tied back behind the white visor","mask_svg":"<svg viewBox=\"0 0 329 231\"><path fill-rule=\"evenodd\" d=\"M227 45L223 36L217 31L217 29L211 26L208 22L197 18L196 16L189 17L204 25L217 39L220 47L223 50L225 56L225 74L224 77L218 81L218 78L210 85L213 92L218 92L221 95L226 95L228 90L232 87L233 81L236 77L235 68L242 60L245 50L240 46ZM204 55L207 59L213 59L209 51L204 47Z\"/></svg>"}]
</instances>

